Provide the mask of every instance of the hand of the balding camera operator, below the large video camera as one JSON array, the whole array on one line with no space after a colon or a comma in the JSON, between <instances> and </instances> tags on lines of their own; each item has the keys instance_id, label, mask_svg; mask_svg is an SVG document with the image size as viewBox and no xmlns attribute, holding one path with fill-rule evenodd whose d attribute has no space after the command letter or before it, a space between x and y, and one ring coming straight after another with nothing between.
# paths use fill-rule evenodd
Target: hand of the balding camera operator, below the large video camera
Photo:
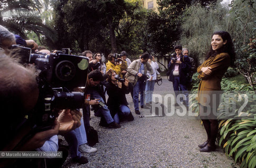
<instances>
[{"instance_id":1,"label":"hand of the balding camera operator, below the large video camera","mask_svg":"<svg viewBox=\"0 0 256 168\"><path fill-rule=\"evenodd\" d=\"M80 127L81 117L82 113L78 110L62 110L58 117L58 122L60 123L59 134L66 133Z\"/></svg>"}]
</instances>

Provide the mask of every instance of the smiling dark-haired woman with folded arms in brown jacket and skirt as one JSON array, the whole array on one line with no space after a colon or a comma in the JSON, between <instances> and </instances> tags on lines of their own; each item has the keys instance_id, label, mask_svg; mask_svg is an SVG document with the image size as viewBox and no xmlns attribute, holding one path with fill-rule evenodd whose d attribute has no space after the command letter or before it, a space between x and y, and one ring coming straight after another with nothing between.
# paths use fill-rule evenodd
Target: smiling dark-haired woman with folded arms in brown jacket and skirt
<instances>
[{"instance_id":1,"label":"smiling dark-haired woman with folded arms in brown jacket and skirt","mask_svg":"<svg viewBox=\"0 0 256 168\"><path fill-rule=\"evenodd\" d=\"M198 145L201 152L215 151L218 121L216 111L220 104L221 80L227 68L233 65L235 59L234 47L230 34L226 31L216 31L212 35L211 49L207 59L197 68L199 114L207 133L207 140Z\"/></svg>"}]
</instances>

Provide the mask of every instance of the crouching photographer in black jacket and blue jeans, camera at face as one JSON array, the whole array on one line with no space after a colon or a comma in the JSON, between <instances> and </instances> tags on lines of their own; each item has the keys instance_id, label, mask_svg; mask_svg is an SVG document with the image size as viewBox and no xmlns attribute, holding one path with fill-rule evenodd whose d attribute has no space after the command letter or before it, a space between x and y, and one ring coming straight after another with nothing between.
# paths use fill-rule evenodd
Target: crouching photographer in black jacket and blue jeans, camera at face
<instances>
[{"instance_id":1,"label":"crouching photographer in black jacket and blue jeans, camera at face","mask_svg":"<svg viewBox=\"0 0 256 168\"><path fill-rule=\"evenodd\" d=\"M122 120L134 120L129 107L127 106L128 102L125 96L129 93L129 81L127 79L120 78L112 69L110 69L108 73L109 84L106 89L109 98L107 101L107 106L110 110L113 120L116 123L119 123Z\"/></svg>"}]
</instances>

